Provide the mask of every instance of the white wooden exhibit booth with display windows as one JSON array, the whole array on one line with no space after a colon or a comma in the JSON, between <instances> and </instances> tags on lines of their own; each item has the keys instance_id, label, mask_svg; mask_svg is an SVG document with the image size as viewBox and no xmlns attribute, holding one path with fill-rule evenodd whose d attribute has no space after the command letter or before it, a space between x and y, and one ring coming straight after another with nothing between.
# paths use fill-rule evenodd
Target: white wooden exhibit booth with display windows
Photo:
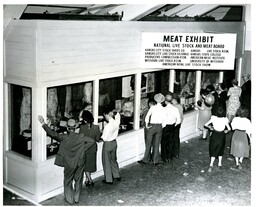
<instances>
[{"instance_id":1,"label":"white wooden exhibit booth with display windows","mask_svg":"<svg viewBox=\"0 0 256 207\"><path fill-rule=\"evenodd\" d=\"M236 34L233 69L145 67L143 33ZM194 105L200 89L240 79L244 41L245 22L10 22L4 37L4 186L35 202L63 192L63 168L53 164L58 143L46 135L38 115L57 131L90 107L102 130L103 107L120 108L117 157L122 168L143 156L141 118L147 101L172 91L184 107L181 141L196 137ZM93 178L103 175L101 150L102 142Z\"/></svg>"}]
</instances>

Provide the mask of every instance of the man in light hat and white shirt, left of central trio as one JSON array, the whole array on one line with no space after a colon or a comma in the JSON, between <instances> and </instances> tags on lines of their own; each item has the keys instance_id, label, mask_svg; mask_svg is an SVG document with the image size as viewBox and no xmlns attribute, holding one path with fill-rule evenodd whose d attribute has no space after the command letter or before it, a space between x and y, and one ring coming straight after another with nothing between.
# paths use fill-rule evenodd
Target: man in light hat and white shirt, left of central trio
<instances>
[{"instance_id":1,"label":"man in light hat and white shirt, left of central trio","mask_svg":"<svg viewBox=\"0 0 256 207\"><path fill-rule=\"evenodd\" d=\"M154 96L154 99L157 104L154 106L151 106L145 118L145 125L146 125L146 128L148 129L147 143L146 143L144 157L142 160L138 161L138 163L140 164L149 163L152 142L154 143L153 144L153 164L154 165L159 164L159 145L162 138L162 129L163 127L165 127L164 123L166 118L166 112L161 103L164 101L165 98L163 94L158 93Z\"/></svg>"}]
</instances>

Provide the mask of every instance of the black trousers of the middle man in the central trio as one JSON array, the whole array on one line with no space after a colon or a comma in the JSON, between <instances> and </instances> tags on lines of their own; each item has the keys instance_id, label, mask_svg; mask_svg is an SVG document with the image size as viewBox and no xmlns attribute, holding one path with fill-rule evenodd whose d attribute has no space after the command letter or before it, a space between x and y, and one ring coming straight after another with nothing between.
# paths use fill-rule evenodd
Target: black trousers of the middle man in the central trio
<instances>
[{"instance_id":1,"label":"black trousers of the middle man in the central trio","mask_svg":"<svg viewBox=\"0 0 256 207\"><path fill-rule=\"evenodd\" d=\"M174 124L166 125L161 141L161 156L163 160L171 159L174 148Z\"/></svg>"}]
</instances>

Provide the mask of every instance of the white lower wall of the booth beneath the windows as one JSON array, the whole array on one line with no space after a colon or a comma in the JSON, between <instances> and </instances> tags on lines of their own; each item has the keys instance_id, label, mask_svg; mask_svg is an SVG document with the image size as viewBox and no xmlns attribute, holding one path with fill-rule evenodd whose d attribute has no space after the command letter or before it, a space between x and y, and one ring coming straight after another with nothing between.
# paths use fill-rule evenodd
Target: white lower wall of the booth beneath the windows
<instances>
[{"instance_id":1,"label":"white lower wall of the booth beneath the windows","mask_svg":"<svg viewBox=\"0 0 256 207\"><path fill-rule=\"evenodd\" d=\"M193 134L195 126L190 127L188 123L196 123L196 117L197 111L185 114L184 125L182 126L181 132L185 131L187 134ZM181 136L181 140L182 138ZM97 172L92 174L93 179L103 175L101 160L102 145L102 142L98 144ZM120 168L136 162L144 155L144 129L119 135L117 145L117 159ZM28 165L26 163L30 163L30 161L23 162L21 158L17 160L8 159L7 181L10 185L15 186L15 188L20 188L30 193L36 192L35 189L33 189L36 185L38 192L36 195L31 196L31 199L35 201L41 202L58 195L63 192L63 168L55 166L54 159L55 158L51 158L41 163L39 166ZM22 170L17 171L17 168ZM34 171L37 171L36 178Z\"/></svg>"}]
</instances>

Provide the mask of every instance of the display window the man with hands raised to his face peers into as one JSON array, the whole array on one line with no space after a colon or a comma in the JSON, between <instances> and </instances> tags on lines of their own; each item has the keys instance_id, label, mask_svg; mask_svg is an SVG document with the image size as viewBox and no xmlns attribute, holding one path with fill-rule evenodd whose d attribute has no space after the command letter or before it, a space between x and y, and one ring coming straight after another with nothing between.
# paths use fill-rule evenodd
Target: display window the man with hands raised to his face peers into
<instances>
[{"instance_id":1,"label":"display window the man with hands raised to his face peers into","mask_svg":"<svg viewBox=\"0 0 256 207\"><path fill-rule=\"evenodd\" d=\"M102 79L99 81L99 125L103 130L104 108L118 109L121 112L119 133L133 129L134 118L134 75Z\"/></svg>"}]
</instances>

